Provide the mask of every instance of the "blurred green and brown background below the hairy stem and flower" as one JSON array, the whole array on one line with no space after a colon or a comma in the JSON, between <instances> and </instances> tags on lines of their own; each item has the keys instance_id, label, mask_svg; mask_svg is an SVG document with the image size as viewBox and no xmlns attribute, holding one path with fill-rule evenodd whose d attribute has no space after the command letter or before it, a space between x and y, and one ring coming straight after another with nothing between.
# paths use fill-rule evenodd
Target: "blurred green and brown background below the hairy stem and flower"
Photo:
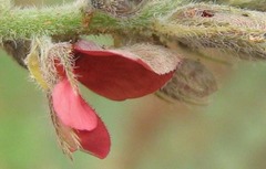
<instances>
[{"instance_id":1,"label":"blurred green and brown background below the hairy stem and flower","mask_svg":"<svg viewBox=\"0 0 266 169\"><path fill-rule=\"evenodd\" d=\"M112 102L84 89L112 149L104 160L75 152L71 161L57 144L44 95L0 51L0 169L264 169L266 63L239 62L225 74L202 107L154 95Z\"/></svg>"}]
</instances>

